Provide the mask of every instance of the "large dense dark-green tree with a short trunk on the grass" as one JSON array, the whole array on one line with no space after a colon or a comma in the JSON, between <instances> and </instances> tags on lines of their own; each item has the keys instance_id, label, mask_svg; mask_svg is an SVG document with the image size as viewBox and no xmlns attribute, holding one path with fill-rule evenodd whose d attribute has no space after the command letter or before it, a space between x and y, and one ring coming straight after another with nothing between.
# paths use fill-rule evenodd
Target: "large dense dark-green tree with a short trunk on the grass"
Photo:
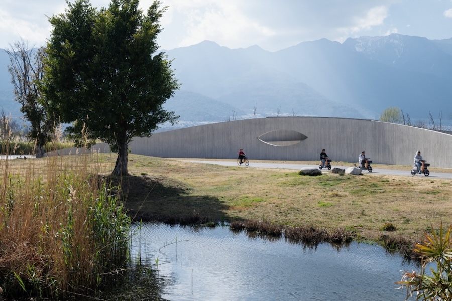
<instances>
[{"instance_id":1,"label":"large dense dark-green tree with a short trunk on the grass","mask_svg":"<svg viewBox=\"0 0 452 301\"><path fill-rule=\"evenodd\" d=\"M67 5L49 18L46 94L62 122L72 122L76 144L105 141L118 153L113 173L125 175L133 137L177 120L163 104L179 84L156 43L166 7L154 1L144 14L138 0L112 0L100 10L88 0Z\"/></svg>"}]
</instances>

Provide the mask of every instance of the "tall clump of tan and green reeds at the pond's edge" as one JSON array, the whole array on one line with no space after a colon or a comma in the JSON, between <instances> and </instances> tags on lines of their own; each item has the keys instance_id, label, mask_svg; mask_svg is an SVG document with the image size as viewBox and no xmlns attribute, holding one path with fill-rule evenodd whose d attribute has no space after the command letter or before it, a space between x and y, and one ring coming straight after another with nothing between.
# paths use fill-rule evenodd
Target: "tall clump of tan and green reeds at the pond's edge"
<instances>
[{"instance_id":1,"label":"tall clump of tan and green reeds at the pond's edge","mask_svg":"<svg viewBox=\"0 0 452 301\"><path fill-rule=\"evenodd\" d=\"M99 181L89 158L71 156L70 165L58 157L24 160L14 173L0 160L0 285L7 297L87 293L127 262L130 218L119 189Z\"/></svg>"}]
</instances>

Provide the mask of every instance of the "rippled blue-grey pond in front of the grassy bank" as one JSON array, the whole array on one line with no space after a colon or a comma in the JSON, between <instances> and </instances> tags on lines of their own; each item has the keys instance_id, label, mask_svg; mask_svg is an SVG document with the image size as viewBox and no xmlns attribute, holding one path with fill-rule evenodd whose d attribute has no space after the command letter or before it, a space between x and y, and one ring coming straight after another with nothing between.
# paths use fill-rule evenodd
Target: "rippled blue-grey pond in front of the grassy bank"
<instances>
[{"instance_id":1,"label":"rippled blue-grey pond in front of the grassy bank","mask_svg":"<svg viewBox=\"0 0 452 301\"><path fill-rule=\"evenodd\" d=\"M136 233L132 255L153 265L165 300L404 300L394 282L419 270L365 243L307 247L227 226L144 224Z\"/></svg>"}]
</instances>

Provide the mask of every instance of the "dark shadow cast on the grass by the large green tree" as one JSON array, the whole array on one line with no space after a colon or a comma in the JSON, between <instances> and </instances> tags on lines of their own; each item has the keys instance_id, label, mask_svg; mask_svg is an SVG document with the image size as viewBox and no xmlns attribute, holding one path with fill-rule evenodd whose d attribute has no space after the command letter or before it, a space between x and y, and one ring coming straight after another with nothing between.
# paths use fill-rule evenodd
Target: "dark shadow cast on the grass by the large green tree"
<instances>
[{"instance_id":1,"label":"dark shadow cast on the grass by the large green tree","mask_svg":"<svg viewBox=\"0 0 452 301\"><path fill-rule=\"evenodd\" d=\"M110 178L111 184L118 180ZM178 180L159 176L127 176L121 180L121 199L133 221L199 225L227 219L227 206L218 198L190 195Z\"/></svg>"}]
</instances>

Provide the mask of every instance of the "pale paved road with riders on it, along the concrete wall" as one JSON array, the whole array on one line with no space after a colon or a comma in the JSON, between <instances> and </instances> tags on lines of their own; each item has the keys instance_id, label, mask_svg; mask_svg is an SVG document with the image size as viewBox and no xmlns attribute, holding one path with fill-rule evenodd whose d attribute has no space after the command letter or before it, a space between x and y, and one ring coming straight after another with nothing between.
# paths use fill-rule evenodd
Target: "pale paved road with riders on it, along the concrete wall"
<instances>
[{"instance_id":1,"label":"pale paved road with riders on it, along the concrete wall","mask_svg":"<svg viewBox=\"0 0 452 301\"><path fill-rule=\"evenodd\" d=\"M206 164L218 164L218 165L225 165L225 166L237 166L237 161L231 160L231 161L215 161L215 160L187 160L189 162L194 163L206 163ZM351 165L350 165L351 166ZM338 167L346 169L350 166L335 166L332 167ZM291 164L291 163L263 163L263 162L253 162L250 161L250 165L248 167L242 166L243 168L283 168L283 169L294 169L294 170L300 170L302 167L318 167L315 165L309 165L309 164ZM322 172L330 172L327 169L322 169ZM369 174L368 171L363 171L363 174ZM374 175L395 175L395 176L407 176L407 177L422 177L422 178L440 178L440 179L452 179L452 173L437 173L430 171L430 175L428 177L425 177L422 175L415 175L412 176L410 173L410 170L388 170L388 169L373 169L372 173Z\"/></svg>"}]
</instances>

